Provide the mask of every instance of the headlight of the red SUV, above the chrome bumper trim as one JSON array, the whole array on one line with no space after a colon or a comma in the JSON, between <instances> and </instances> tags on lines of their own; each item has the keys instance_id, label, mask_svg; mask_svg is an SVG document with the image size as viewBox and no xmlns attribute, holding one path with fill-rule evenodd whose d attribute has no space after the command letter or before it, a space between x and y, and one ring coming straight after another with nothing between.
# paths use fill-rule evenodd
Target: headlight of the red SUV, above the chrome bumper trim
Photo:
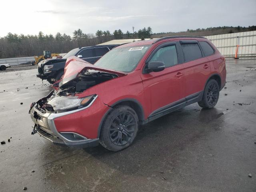
<instances>
[{"instance_id":1,"label":"headlight of the red SUV, above the chrome bumper trim","mask_svg":"<svg viewBox=\"0 0 256 192\"><path fill-rule=\"evenodd\" d=\"M67 111L83 108L91 104L96 95L91 95L83 98L77 97L56 97L48 102L54 111Z\"/></svg>"}]
</instances>

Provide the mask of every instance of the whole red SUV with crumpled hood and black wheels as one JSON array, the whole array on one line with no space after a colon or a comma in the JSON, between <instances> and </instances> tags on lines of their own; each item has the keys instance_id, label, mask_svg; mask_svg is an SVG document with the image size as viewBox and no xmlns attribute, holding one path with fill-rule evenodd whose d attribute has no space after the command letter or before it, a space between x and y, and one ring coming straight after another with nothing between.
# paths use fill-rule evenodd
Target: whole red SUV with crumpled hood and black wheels
<instances>
[{"instance_id":1,"label":"whole red SUV with crumpled hood and black wheels","mask_svg":"<svg viewBox=\"0 0 256 192\"><path fill-rule=\"evenodd\" d=\"M225 58L206 38L172 36L117 46L94 65L75 56L54 90L30 108L55 144L118 151L138 126L198 102L213 108L226 83Z\"/></svg>"}]
</instances>

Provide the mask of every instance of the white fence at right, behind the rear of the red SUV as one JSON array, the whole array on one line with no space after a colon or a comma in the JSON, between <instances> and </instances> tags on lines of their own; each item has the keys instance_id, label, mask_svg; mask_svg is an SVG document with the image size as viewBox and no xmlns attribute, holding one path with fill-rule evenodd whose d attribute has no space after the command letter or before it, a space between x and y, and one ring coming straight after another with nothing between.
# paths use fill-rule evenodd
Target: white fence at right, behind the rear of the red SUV
<instances>
[{"instance_id":1,"label":"white fence at right, behind the rear of the red SUV","mask_svg":"<svg viewBox=\"0 0 256 192\"><path fill-rule=\"evenodd\" d=\"M238 48L238 57L256 56L256 31L230 33L222 35L205 36L218 48L225 57L234 57L236 45Z\"/></svg>"}]
</instances>

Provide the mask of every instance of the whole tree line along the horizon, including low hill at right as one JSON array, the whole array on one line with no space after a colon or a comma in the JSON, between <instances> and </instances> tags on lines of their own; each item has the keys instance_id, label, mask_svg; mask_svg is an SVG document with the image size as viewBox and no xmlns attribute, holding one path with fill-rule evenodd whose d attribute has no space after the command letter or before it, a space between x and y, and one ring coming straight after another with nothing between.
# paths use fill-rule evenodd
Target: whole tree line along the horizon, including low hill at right
<instances>
[{"instance_id":1,"label":"whole tree line along the horizon, including low hill at right","mask_svg":"<svg viewBox=\"0 0 256 192\"><path fill-rule=\"evenodd\" d=\"M66 33L61 34L60 32L55 35L44 34L42 31L37 35L18 35L9 32L6 36L0 38L0 58L42 55L43 50L52 50L53 53L66 53L74 48L92 46L113 39L138 38L143 40L145 38L161 38L164 36L175 35L208 36L252 30L256 30L256 26L219 26L166 33L152 33L151 27L144 27L138 31L134 31L134 27L132 27L132 32L128 30L126 32L122 32L121 29L114 30L112 33L109 30L97 30L95 34L86 34L81 29L78 29L74 30L72 37Z\"/></svg>"}]
</instances>

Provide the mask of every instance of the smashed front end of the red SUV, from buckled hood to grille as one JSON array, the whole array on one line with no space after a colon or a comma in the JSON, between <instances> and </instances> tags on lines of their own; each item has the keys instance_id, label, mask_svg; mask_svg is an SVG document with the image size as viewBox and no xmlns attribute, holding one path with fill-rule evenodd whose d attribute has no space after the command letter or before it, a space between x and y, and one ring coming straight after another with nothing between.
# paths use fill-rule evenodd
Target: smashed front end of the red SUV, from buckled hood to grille
<instances>
[{"instance_id":1,"label":"smashed front end of the red SUV, from buckled hood to grille","mask_svg":"<svg viewBox=\"0 0 256 192\"><path fill-rule=\"evenodd\" d=\"M38 132L44 138L60 145L96 146L98 145L98 138L91 139L78 134L80 127L75 131L59 132L56 128L55 119L67 117L70 114L72 116L76 112L79 113L89 108L98 96L93 94L81 98L79 96L82 92L125 74L96 68L83 60L78 62L77 59L72 58L72 61L68 59L64 76L59 82L52 85L54 89L46 97L31 104L29 113L35 123L32 134ZM70 118L68 122L76 123L76 120Z\"/></svg>"}]
</instances>

